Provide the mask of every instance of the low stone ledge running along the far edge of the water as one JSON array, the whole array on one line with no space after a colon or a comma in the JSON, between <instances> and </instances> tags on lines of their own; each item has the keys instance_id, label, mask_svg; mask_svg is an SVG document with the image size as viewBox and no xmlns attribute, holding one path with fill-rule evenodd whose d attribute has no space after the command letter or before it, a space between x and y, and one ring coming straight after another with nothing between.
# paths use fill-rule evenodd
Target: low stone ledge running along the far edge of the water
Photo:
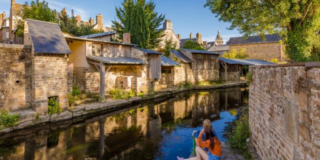
<instances>
[{"instance_id":1,"label":"low stone ledge running along the far edge of the water","mask_svg":"<svg viewBox=\"0 0 320 160\"><path fill-rule=\"evenodd\" d=\"M217 88L228 88L236 86L245 86L245 82L230 82L219 85L196 85L191 88L168 88L163 90L158 90L152 94L152 96L144 97L132 97L129 99L119 99L119 100L107 100L104 103L92 102L87 104L81 104L74 106L68 110L65 110L59 114L43 115L39 116L32 109L26 109L11 113L18 113L20 115L19 123L15 126L6 127L0 130L0 134L4 134L11 131L16 131L24 128L30 128L35 126L46 125L49 123L62 122L66 120L77 121L86 117L91 117L97 114L102 114L106 112L115 111L121 108L128 107L130 104L138 104L143 101L156 99L164 100L174 94L188 91L188 90L204 90L204 89L217 89Z\"/></svg>"}]
</instances>

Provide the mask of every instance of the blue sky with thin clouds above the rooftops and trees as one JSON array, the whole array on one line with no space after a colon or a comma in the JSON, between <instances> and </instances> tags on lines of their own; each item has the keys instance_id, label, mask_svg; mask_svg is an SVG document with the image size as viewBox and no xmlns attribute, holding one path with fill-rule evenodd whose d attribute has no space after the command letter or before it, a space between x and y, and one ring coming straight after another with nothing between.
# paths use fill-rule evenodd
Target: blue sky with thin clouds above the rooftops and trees
<instances>
[{"instance_id":1,"label":"blue sky with thin clouds above the rooftops and trees","mask_svg":"<svg viewBox=\"0 0 320 160\"><path fill-rule=\"evenodd\" d=\"M15 0L24 3L25 0ZM31 0L27 0L31 1ZM87 21L95 15L103 15L103 23L111 26L111 20L116 19L115 6L121 5L122 0L46 0L49 7L60 11L66 8L68 14L73 9L75 14L80 14L82 20ZM197 32L202 34L202 40L214 41L217 30L220 29L223 41L230 37L241 36L236 29L228 30L229 23L219 21L208 8L203 7L206 0L153 0L156 11L165 14L166 19L173 23L173 30L180 33L182 38L188 38L190 32L193 37ZM7 16L10 10L10 0L0 0L0 12L5 11ZM162 27L162 26L160 26Z\"/></svg>"}]
</instances>

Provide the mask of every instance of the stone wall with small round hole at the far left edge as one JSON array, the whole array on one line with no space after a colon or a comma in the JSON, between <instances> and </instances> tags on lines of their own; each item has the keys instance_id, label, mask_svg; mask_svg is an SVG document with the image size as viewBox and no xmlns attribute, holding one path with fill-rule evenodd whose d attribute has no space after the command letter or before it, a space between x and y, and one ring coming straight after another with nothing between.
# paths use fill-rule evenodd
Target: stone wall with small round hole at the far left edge
<instances>
[{"instance_id":1,"label":"stone wall with small round hole at the far left edge","mask_svg":"<svg viewBox=\"0 0 320 160\"><path fill-rule=\"evenodd\" d=\"M18 44L0 44L0 109L31 107L31 50Z\"/></svg>"}]
</instances>

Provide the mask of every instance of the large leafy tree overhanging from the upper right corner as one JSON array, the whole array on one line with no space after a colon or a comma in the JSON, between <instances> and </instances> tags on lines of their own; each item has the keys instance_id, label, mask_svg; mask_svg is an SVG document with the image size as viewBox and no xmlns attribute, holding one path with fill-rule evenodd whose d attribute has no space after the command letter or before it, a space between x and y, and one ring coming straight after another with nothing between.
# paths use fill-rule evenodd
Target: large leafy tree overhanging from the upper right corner
<instances>
[{"instance_id":1,"label":"large leafy tree overhanging from the upper right corner","mask_svg":"<svg viewBox=\"0 0 320 160\"><path fill-rule=\"evenodd\" d=\"M291 60L319 60L319 0L206 0L204 6L244 37L281 34Z\"/></svg>"}]
</instances>

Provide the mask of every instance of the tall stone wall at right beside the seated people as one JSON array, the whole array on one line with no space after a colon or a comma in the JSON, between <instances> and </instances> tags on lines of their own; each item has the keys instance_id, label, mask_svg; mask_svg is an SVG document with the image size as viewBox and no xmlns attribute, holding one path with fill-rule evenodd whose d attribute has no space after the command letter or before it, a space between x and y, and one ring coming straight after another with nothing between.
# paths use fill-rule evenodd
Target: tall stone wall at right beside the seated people
<instances>
[{"instance_id":1,"label":"tall stone wall at right beside the seated people","mask_svg":"<svg viewBox=\"0 0 320 160\"><path fill-rule=\"evenodd\" d=\"M250 66L249 125L261 159L320 159L320 62Z\"/></svg>"}]
</instances>

